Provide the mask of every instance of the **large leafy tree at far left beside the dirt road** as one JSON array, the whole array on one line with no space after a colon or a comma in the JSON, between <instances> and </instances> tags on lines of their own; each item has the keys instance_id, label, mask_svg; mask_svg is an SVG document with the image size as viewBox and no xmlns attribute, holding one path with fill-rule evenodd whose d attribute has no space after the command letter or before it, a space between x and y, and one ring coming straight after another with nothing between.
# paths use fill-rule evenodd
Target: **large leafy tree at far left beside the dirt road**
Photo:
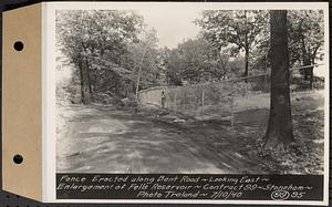
<instances>
[{"instance_id":1,"label":"large leafy tree at far left beside the dirt road","mask_svg":"<svg viewBox=\"0 0 332 207\"><path fill-rule=\"evenodd\" d=\"M137 40L143 18L132 11L56 11L56 40L60 50L80 71L82 103L93 101L103 82L112 80L118 89L124 70L121 56ZM86 96L89 92L89 97Z\"/></svg>"}]
</instances>

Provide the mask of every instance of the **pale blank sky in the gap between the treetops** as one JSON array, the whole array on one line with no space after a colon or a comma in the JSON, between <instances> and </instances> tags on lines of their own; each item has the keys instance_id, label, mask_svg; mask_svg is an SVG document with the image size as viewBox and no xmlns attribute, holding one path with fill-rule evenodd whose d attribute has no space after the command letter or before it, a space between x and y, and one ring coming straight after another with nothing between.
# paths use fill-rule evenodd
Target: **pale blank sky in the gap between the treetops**
<instances>
[{"instance_id":1,"label":"pale blank sky in the gap between the treetops","mask_svg":"<svg viewBox=\"0 0 332 207\"><path fill-rule=\"evenodd\" d=\"M148 28L157 31L159 46L176 48L184 39L194 39L199 27L193 21L200 17L200 9L193 7L166 7L162 9L142 8L137 11L144 17Z\"/></svg>"}]
</instances>

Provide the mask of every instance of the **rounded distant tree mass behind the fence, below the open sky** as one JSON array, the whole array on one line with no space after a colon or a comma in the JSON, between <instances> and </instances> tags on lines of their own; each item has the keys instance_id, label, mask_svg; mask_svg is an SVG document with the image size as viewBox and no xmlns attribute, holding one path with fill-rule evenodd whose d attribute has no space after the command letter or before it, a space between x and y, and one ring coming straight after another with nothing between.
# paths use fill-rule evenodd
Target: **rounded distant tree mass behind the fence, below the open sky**
<instances>
[{"instance_id":1,"label":"rounded distant tree mass behind the fence, below the open sky","mask_svg":"<svg viewBox=\"0 0 332 207\"><path fill-rule=\"evenodd\" d=\"M181 85L181 81L197 84L225 79L229 53L197 37L183 41L176 49L165 49L164 60L169 84Z\"/></svg>"}]
</instances>

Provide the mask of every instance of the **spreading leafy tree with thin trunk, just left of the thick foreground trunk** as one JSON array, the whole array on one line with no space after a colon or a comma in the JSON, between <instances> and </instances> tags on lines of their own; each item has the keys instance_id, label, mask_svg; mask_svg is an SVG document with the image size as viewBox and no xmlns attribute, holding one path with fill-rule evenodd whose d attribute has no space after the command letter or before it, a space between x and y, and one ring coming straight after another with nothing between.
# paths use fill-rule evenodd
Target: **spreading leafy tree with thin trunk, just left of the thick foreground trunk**
<instances>
[{"instance_id":1,"label":"spreading leafy tree with thin trunk, just left of the thick foreground trunk","mask_svg":"<svg viewBox=\"0 0 332 207\"><path fill-rule=\"evenodd\" d=\"M256 10L206 10L196 23L203 29L203 35L217 50L235 44L235 52L243 51L246 65L243 76L249 73L250 50L267 24L267 12Z\"/></svg>"}]
</instances>

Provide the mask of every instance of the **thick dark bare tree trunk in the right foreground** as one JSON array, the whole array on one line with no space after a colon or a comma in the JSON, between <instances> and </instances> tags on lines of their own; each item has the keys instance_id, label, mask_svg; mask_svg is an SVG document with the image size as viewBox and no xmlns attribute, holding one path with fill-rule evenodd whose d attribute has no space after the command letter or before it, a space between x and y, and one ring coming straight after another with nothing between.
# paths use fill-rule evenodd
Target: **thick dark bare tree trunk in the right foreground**
<instances>
[{"instance_id":1,"label":"thick dark bare tree trunk in the right foreground","mask_svg":"<svg viewBox=\"0 0 332 207\"><path fill-rule=\"evenodd\" d=\"M292 131L287 11L270 12L271 30L271 101L264 147L284 149L294 142Z\"/></svg>"}]
</instances>

